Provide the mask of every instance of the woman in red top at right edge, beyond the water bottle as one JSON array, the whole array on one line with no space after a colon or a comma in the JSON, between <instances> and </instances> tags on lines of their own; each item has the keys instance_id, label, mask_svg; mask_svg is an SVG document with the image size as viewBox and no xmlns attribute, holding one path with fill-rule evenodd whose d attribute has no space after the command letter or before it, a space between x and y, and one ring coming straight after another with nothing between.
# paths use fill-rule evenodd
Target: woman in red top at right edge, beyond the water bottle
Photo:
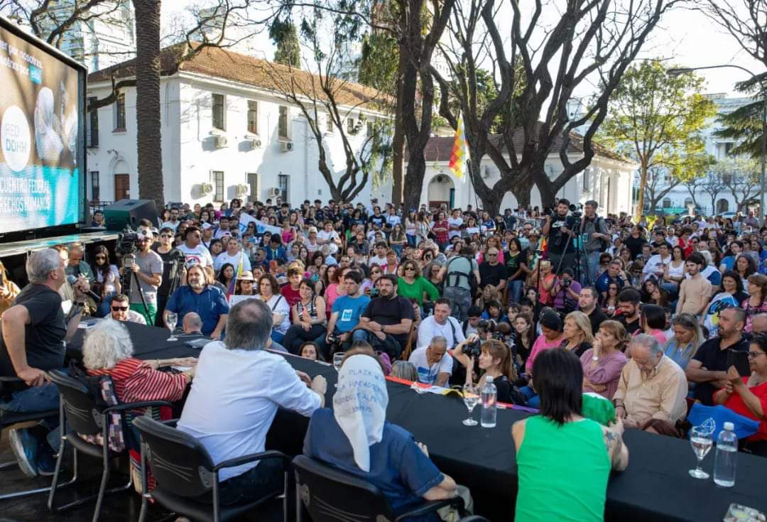
<instances>
[{"instance_id":1,"label":"woman in red top at right edge, beyond the water bottle","mask_svg":"<svg viewBox=\"0 0 767 522\"><path fill-rule=\"evenodd\" d=\"M767 336L757 334L749 345L751 375L742 377L735 366L727 369L729 379L714 393L714 404L723 404L739 415L759 422L759 431L747 441L749 451L767 457Z\"/></svg>"}]
</instances>

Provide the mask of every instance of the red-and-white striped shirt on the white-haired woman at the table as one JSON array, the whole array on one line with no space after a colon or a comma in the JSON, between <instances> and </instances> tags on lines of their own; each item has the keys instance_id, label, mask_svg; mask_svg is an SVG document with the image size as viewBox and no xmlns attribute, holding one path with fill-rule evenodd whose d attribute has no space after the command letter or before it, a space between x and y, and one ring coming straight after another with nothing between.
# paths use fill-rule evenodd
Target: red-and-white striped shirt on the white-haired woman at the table
<instances>
[{"instance_id":1,"label":"red-and-white striped shirt on the white-haired woman at the table","mask_svg":"<svg viewBox=\"0 0 767 522\"><path fill-rule=\"evenodd\" d=\"M182 373L160 372L143 361L130 357L111 369L89 369L89 375L107 375L114 382L117 400L127 402L177 401L186 390L186 376Z\"/></svg>"}]
</instances>

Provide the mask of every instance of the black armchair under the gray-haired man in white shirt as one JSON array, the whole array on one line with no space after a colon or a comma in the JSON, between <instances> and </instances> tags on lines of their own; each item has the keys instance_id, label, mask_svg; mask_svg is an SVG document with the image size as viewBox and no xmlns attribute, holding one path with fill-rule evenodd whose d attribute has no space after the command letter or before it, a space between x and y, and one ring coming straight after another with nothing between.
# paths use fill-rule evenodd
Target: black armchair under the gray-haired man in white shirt
<instances>
[{"instance_id":1,"label":"black armchair under the gray-haired man in white shirt","mask_svg":"<svg viewBox=\"0 0 767 522\"><path fill-rule=\"evenodd\" d=\"M193 520L231 520L255 507L283 495L283 520L288 517L287 484L290 459L279 451L263 451L253 455L213 465L206 448L196 438L175 428L176 421L157 422L149 417L140 417L133 425L141 434L141 474L143 498L139 522L146 517L150 497L176 514ZM281 459L285 470L285 485L282 491L264 497L246 499L229 505L219 505L219 471L223 468L261 461L265 458ZM147 493L146 463L152 468L156 487ZM212 502L207 500L212 495Z\"/></svg>"}]
</instances>

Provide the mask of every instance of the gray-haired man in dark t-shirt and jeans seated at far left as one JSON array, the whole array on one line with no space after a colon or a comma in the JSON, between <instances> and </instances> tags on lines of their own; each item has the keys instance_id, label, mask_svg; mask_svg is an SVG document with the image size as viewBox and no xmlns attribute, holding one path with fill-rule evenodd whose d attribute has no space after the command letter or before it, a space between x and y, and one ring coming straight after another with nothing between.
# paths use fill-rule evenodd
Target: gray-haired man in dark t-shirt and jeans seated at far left
<instances>
[{"instance_id":1,"label":"gray-haired man in dark t-shirt and jeans seated at far left","mask_svg":"<svg viewBox=\"0 0 767 522\"><path fill-rule=\"evenodd\" d=\"M0 376L22 382L0 399L0 409L10 412L44 412L58 409L58 390L45 373L64 366L64 341L71 340L80 323L88 284L78 278L72 285L74 303L64 317L58 289L66 281L66 263L53 248L33 252L27 259L29 284L2 314ZM46 419L46 428L58 425L58 416ZM58 436L51 431L49 440ZM53 452L44 438L29 428L8 433L21 471L34 477L53 473ZM58 441L54 442L58 447Z\"/></svg>"}]
</instances>

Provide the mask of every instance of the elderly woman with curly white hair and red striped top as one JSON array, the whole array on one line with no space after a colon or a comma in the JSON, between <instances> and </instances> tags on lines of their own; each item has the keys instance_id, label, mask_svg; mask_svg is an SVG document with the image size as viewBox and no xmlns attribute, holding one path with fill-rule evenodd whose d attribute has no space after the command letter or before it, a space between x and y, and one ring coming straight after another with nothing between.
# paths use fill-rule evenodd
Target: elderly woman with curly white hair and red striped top
<instances>
[{"instance_id":1,"label":"elderly woman with curly white hair and red striped top","mask_svg":"<svg viewBox=\"0 0 767 522\"><path fill-rule=\"evenodd\" d=\"M194 377L197 359L133 357L127 328L116 320L103 320L88 330L83 343L83 363L92 376L110 376L117 400L122 403L178 401ZM183 373L160 372L160 366L191 366Z\"/></svg>"}]
</instances>

